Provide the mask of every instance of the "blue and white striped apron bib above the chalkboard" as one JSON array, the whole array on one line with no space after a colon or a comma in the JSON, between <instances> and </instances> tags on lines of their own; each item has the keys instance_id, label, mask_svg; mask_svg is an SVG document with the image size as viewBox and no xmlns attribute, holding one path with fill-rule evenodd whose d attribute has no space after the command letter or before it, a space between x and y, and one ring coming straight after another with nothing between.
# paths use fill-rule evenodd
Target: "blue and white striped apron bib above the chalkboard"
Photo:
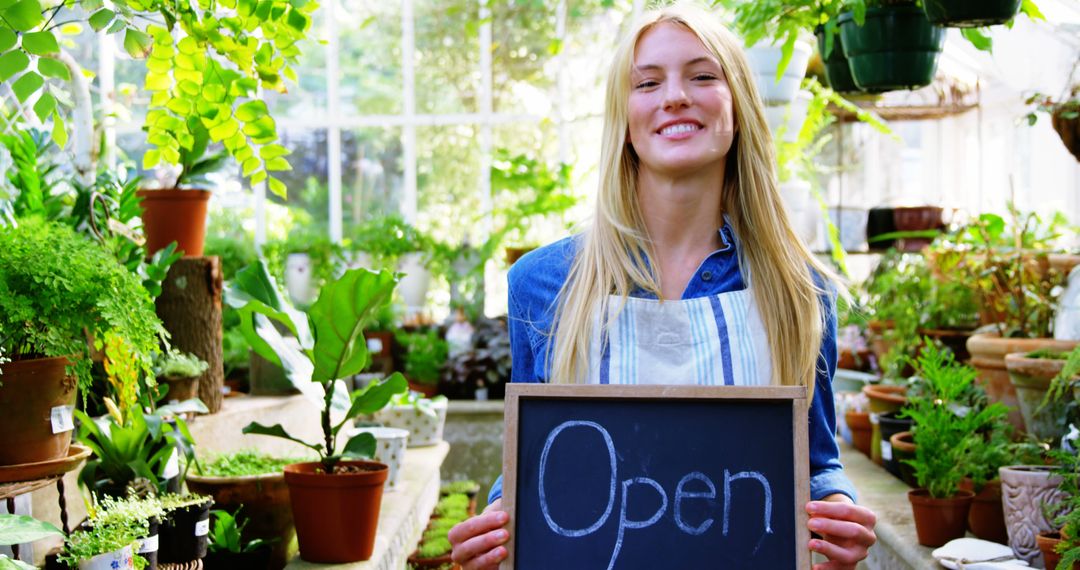
<instances>
[{"instance_id":1,"label":"blue and white striped apron bib above the chalkboard","mask_svg":"<svg viewBox=\"0 0 1080 570\"><path fill-rule=\"evenodd\" d=\"M607 347L593 341L598 384L769 385L765 325L750 289L666 300L612 297ZM598 321L598 320L597 320Z\"/></svg>"}]
</instances>

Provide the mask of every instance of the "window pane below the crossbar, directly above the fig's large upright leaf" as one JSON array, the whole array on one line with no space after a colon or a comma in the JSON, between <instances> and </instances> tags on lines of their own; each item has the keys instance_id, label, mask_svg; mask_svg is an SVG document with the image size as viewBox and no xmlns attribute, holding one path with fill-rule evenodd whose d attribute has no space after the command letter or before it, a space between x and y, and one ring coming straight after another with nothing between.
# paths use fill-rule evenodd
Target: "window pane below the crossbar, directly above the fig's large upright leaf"
<instances>
[{"instance_id":1,"label":"window pane below the crossbar, directly above the fig's large upright leaf","mask_svg":"<svg viewBox=\"0 0 1080 570\"><path fill-rule=\"evenodd\" d=\"M401 212L401 128L341 132L341 209L345 234L374 216Z\"/></svg>"}]
</instances>

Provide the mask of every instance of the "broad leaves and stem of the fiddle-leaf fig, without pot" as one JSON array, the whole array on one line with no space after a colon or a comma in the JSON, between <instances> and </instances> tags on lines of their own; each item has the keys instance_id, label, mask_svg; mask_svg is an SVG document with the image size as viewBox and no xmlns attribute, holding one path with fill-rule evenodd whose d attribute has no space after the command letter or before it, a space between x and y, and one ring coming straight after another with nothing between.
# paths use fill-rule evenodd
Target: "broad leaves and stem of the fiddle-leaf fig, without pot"
<instances>
[{"instance_id":1,"label":"broad leaves and stem of the fiddle-leaf fig, without pot","mask_svg":"<svg viewBox=\"0 0 1080 570\"><path fill-rule=\"evenodd\" d=\"M323 287L305 315L285 300L261 262L241 271L227 294L229 303L240 310L241 329L252 349L282 366L294 385L301 390L321 389L323 442L309 444L293 437L281 424L268 426L252 422L243 432L298 443L319 453L327 474L334 473L342 458L370 458L375 451L375 436L361 433L338 448L338 433L349 420L382 409L393 394L405 392L408 384L395 372L351 395L345 395L337 386L341 386L340 379L359 374L370 361L364 326L374 311L387 301L396 283L396 275L389 271L346 271ZM298 349L284 342L274 323L296 336ZM343 399L337 406L336 393L341 394L339 402ZM332 419L335 407L345 412L339 420Z\"/></svg>"}]
</instances>

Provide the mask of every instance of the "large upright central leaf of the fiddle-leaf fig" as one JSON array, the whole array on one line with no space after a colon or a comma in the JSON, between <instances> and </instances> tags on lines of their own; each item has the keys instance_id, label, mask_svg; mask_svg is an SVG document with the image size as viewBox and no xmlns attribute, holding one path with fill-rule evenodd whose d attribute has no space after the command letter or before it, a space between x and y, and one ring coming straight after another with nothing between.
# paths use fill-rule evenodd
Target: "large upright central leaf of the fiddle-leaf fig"
<instances>
[{"instance_id":1,"label":"large upright central leaf of the fiddle-leaf fig","mask_svg":"<svg viewBox=\"0 0 1080 570\"><path fill-rule=\"evenodd\" d=\"M363 327L395 285L397 277L390 271L351 269L323 287L308 312L315 327L312 380L327 382L364 369L368 355Z\"/></svg>"}]
</instances>

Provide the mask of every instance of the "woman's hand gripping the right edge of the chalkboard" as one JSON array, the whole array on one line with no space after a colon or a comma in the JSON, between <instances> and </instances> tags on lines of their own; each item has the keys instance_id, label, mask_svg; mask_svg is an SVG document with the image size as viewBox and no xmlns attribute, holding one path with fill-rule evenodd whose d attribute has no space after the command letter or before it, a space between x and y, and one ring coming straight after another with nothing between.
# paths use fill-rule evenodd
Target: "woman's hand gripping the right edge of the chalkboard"
<instances>
[{"instance_id":1,"label":"woman's hand gripping the right edge of the chalkboard","mask_svg":"<svg viewBox=\"0 0 1080 570\"><path fill-rule=\"evenodd\" d=\"M807 513L810 514L807 527L821 537L810 539L810 549L828 558L827 562L815 565L813 570L853 570L877 542L874 512L854 504L846 494L810 501Z\"/></svg>"}]
</instances>

